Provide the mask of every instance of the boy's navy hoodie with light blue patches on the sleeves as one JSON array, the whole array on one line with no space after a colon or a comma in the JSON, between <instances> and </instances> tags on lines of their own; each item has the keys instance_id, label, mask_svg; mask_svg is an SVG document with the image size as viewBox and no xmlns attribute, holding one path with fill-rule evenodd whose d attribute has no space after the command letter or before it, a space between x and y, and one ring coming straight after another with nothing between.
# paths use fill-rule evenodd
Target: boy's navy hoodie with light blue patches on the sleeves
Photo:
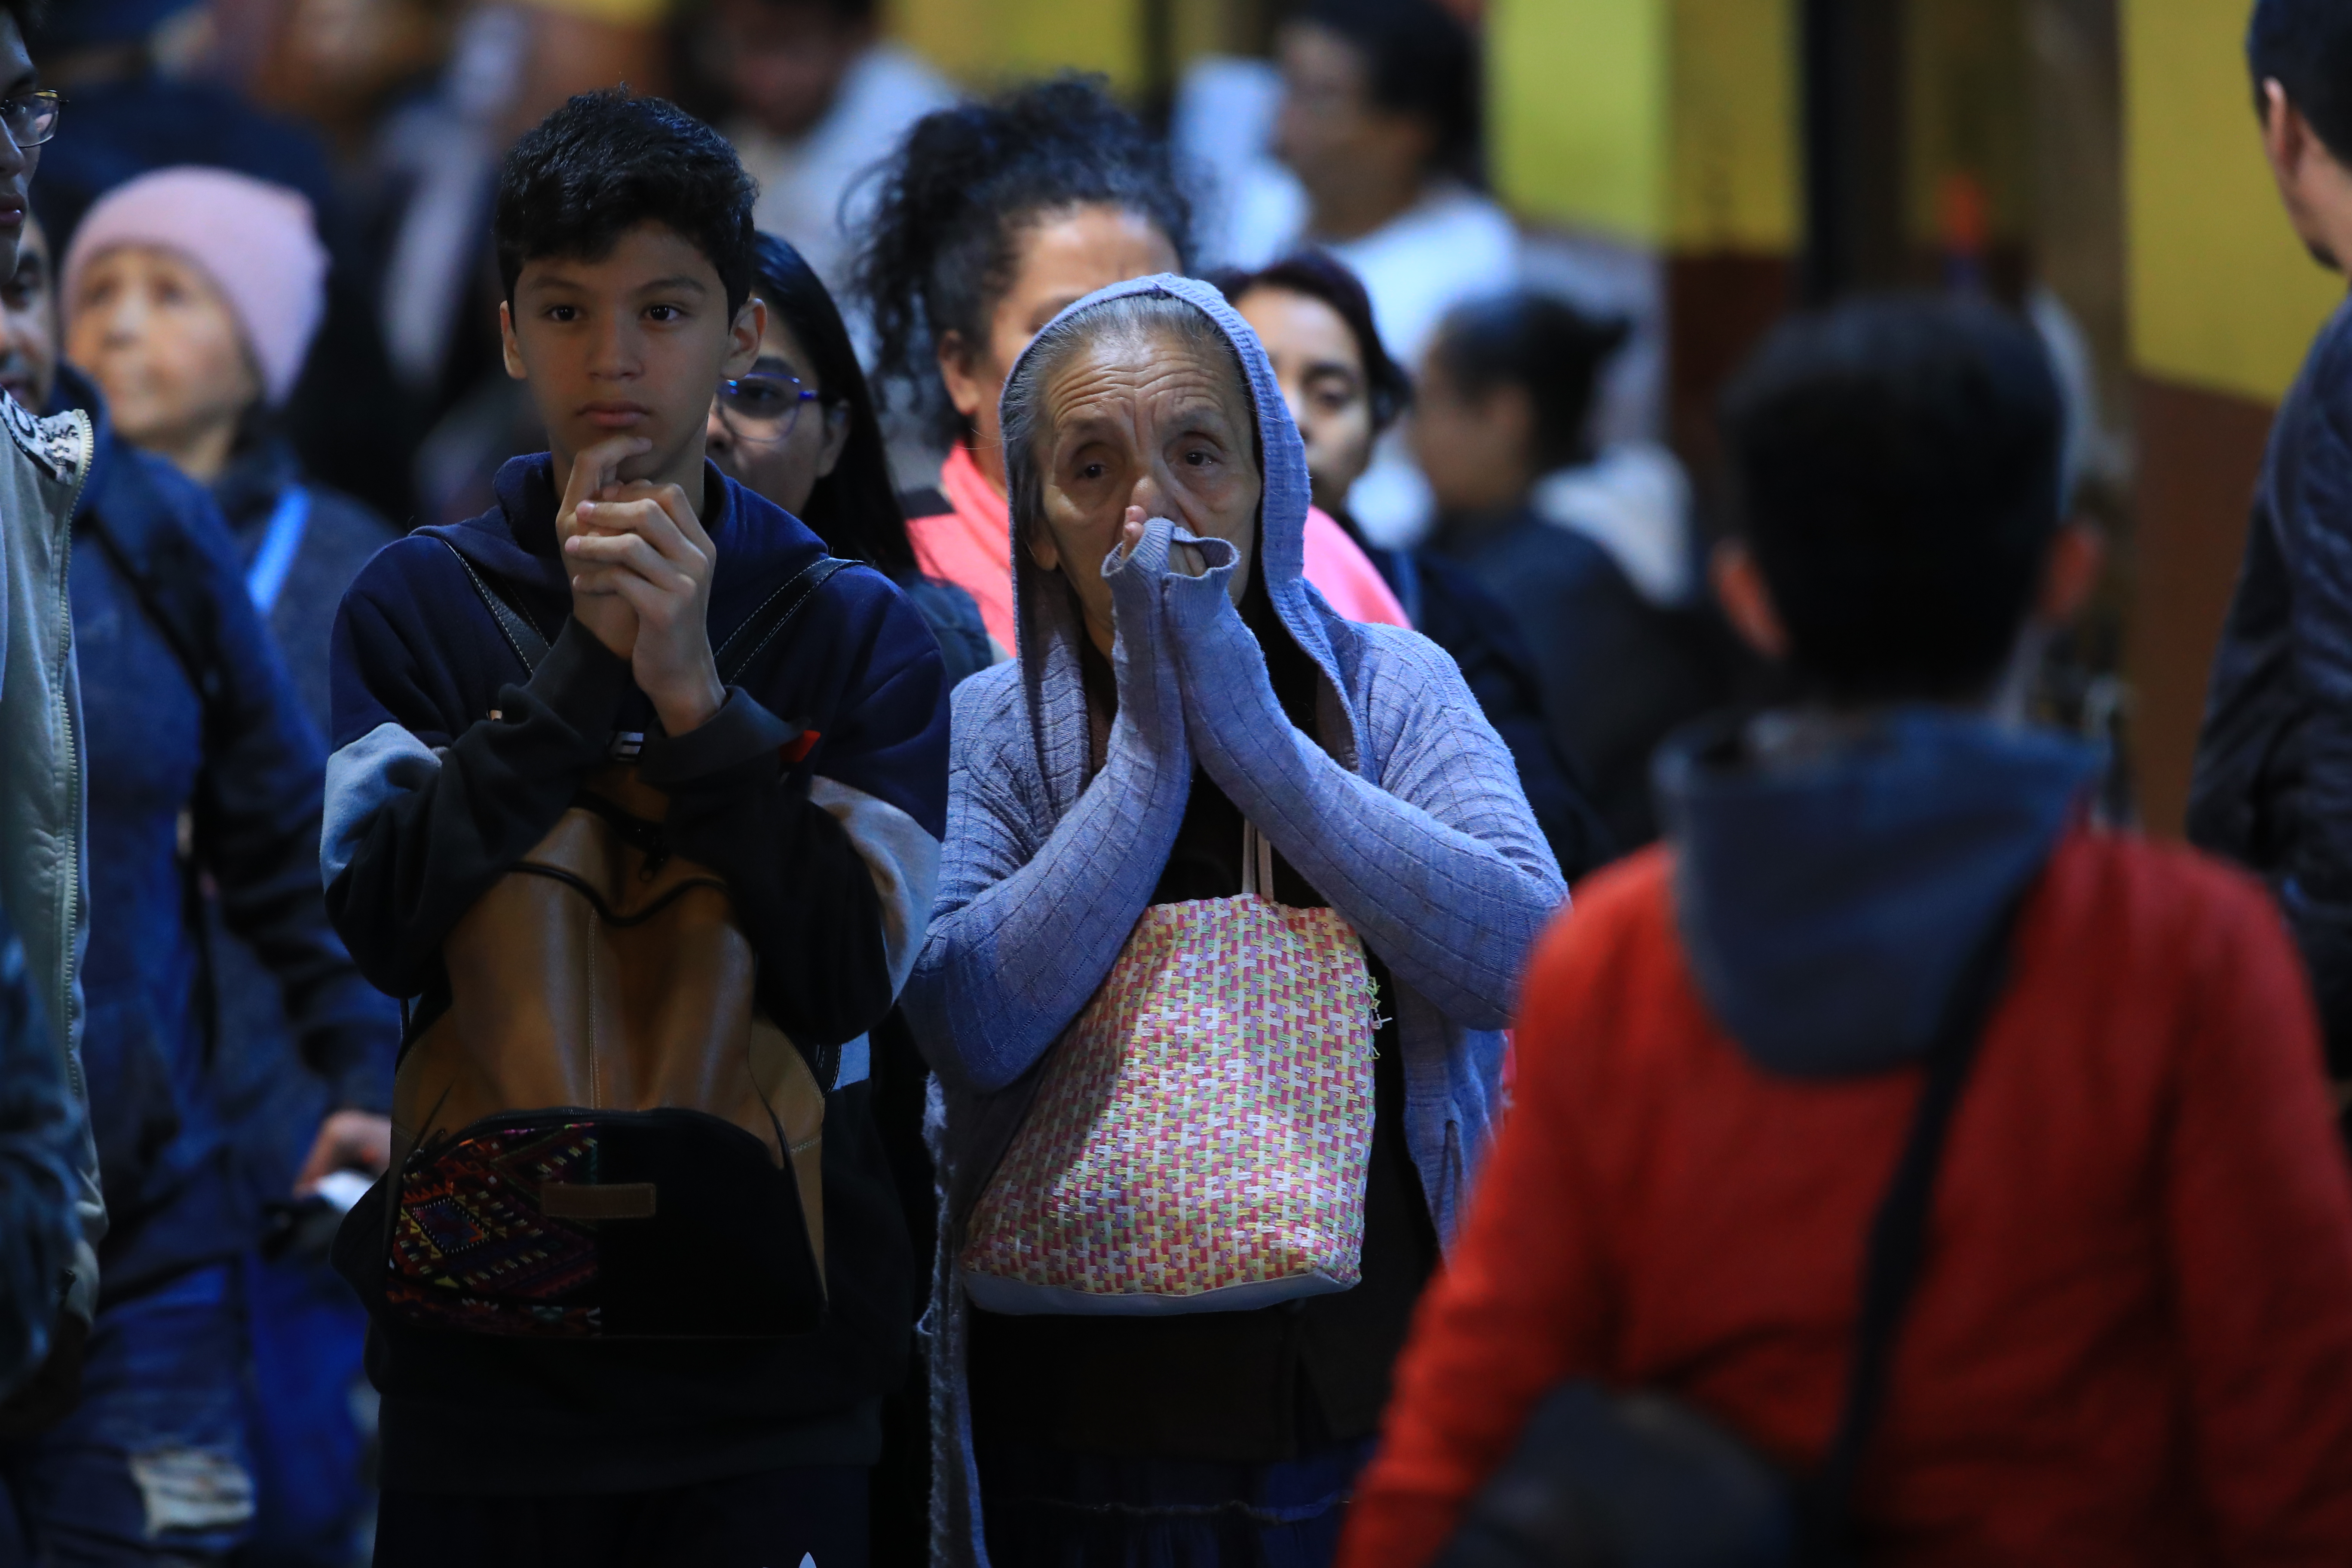
<instances>
[{"instance_id":1,"label":"boy's navy hoodie with light blue patches on the sleeves","mask_svg":"<svg viewBox=\"0 0 2352 1568\"><path fill-rule=\"evenodd\" d=\"M722 644L823 543L715 465L703 473L717 548L710 639ZM496 496L470 522L388 545L343 597L327 905L362 971L414 999L414 1039L447 1006L442 938L546 837L614 736L642 733L637 766L670 797L670 846L727 879L760 959L760 1006L811 1056L818 1081L840 1046L823 1138L828 1319L767 1342L534 1342L414 1331L376 1312L381 1483L546 1495L873 1462L913 1281L868 1110L866 1032L915 961L938 875L938 644L884 576L840 571L750 672L755 689L729 686L717 717L668 738L628 663L572 621L550 458L506 463ZM548 637L527 679L459 552ZM379 1185L336 1248L372 1305L381 1204Z\"/></svg>"}]
</instances>

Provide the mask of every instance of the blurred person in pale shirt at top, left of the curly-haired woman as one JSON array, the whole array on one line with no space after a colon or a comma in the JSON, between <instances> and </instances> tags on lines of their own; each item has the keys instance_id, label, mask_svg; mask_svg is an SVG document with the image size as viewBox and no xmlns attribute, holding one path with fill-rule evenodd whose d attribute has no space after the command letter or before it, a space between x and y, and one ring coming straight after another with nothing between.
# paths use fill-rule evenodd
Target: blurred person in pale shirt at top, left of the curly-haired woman
<instances>
[{"instance_id":1,"label":"blurred person in pale shirt at top, left of the curly-haired woman","mask_svg":"<svg viewBox=\"0 0 2352 1568\"><path fill-rule=\"evenodd\" d=\"M701 52L731 99L736 155L760 181L760 228L842 289L870 202L858 176L955 103L955 87L877 38L875 0L713 0Z\"/></svg>"}]
</instances>

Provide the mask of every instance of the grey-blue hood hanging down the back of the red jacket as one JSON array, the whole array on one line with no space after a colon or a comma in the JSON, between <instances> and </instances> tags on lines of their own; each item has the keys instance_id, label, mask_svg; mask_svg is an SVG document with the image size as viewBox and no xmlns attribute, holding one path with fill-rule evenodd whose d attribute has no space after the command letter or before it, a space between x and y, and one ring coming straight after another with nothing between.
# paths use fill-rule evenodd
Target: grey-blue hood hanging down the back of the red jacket
<instances>
[{"instance_id":1,"label":"grey-blue hood hanging down the back of the red jacket","mask_svg":"<svg viewBox=\"0 0 2352 1568\"><path fill-rule=\"evenodd\" d=\"M2086 745L1940 708L1668 743L1658 806L1700 994L1769 1072L1917 1060L2096 771Z\"/></svg>"}]
</instances>

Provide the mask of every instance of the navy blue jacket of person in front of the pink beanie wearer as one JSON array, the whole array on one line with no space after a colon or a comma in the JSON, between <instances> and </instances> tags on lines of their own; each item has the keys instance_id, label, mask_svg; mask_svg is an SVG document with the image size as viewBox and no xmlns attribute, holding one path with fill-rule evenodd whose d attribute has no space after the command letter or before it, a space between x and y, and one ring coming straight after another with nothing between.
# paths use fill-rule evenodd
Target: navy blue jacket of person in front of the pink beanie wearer
<instances>
[{"instance_id":1,"label":"navy blue jacket of person in front of the pink beanie wearer","mask_svg":"<svg viewBox=\"0 0 2352 1568\"><path fill-rule=\"evenodd\" d=\"M96 430L73 517L89 748L82 1053L111 1215L101 1291L120 1300L259 1237L219 1105L183 816L221 917L278 980L329 1107L390 1105L397 1018L327 924L310 860L325 755L212 498L120 442L96 390L71 371L56 397L87 409ZM134 574L174 578L160 588L209 625L209 646L176 649L153 614L158 590L141 592Z\"/></svg>"}]
</instances>

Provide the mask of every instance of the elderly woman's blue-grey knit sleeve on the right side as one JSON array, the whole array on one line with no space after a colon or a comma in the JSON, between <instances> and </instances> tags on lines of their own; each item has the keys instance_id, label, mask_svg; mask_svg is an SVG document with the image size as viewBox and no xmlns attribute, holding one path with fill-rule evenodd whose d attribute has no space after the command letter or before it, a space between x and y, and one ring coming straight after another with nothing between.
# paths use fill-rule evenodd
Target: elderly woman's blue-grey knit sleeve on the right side
<instances>
[{"instance_id":1,"label":"elderly woman's blue-grey knit sleeve on the right side","mask_svg":"<svg viewBox=\"0 0 2352 1568\"><path fill-rule=\"evenodd\" d=\"M1202 769L1399 980L1463 1027L1503 1027L1566 886L1461 670L1414 632L1364 630L1390 639L1364 698L1397 743L1378 783L1352 773L1282 712L1225 592L1232 548L1200 548L1216 564L1169 574L1164 604ZM1383 708L1399 722L1383 724Z\"/></svg>"}]
</instances>

